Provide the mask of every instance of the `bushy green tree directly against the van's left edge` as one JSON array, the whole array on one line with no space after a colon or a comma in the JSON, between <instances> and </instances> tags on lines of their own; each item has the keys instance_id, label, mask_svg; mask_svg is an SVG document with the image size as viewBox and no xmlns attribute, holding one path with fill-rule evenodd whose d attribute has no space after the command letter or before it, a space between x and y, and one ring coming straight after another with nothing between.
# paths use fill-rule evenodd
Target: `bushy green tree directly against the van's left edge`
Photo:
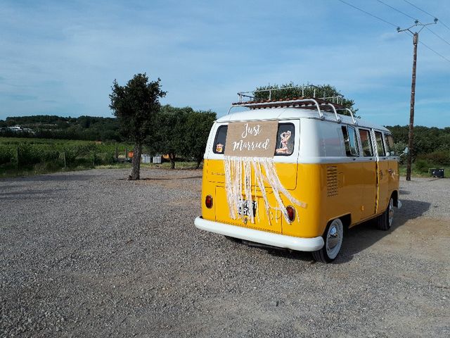
<instances>
[{"instance_id":1,"label":"bushy green tree directly against the van's left edge","mask_svg":"<svg viewBox=\"0 0 450 338\"><path fill-rule=\"evenodd\" d=\"M192 111L188 113L184 132L185 141L182 144L181 151L184 155L195 158L195 161L197 161L195 169L200 167L203 160L207 139L216 118L216 113L212 111Z\"/></svg>"}]
</instances>

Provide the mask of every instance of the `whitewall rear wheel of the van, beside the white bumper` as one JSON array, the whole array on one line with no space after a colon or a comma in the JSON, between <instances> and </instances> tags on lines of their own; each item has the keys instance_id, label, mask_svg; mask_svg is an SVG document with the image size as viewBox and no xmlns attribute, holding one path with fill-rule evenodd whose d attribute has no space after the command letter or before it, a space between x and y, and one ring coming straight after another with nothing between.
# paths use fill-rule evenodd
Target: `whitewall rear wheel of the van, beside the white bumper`
<instances>
[{"instance_id":1,"label":"whitewall rear wheel of the van, beside the white bumper","mask_svg":"<svg viewBox=\"0 0 450 338\"><path fill-rule=\"evenodd\" d=\"M330 263L335 260L342 246L344 238L344 225L342 220L336 218L325 230L323 235L323 248L312 252L313 258L318 262Z\"/></svg>"}]
</instances>

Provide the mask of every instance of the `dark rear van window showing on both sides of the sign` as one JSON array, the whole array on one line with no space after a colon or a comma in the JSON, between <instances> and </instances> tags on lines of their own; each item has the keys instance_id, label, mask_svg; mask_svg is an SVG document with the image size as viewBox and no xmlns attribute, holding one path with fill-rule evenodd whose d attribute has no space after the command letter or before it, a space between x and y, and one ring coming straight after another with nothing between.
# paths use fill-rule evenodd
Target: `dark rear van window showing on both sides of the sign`
<instances>
[{"instance_id":1,"label":"dark rear van window showing on both sides of the sign","mask_svg":"<svg viewBox=\"0 0 450 338\"><path fill-rule=\"evenodd\" d=\"M214 154L225 153L225 141L228 125L221 125L217 129L216 138L212 146ZM295 127L293 123L278 123L276 133L275 156L289 156L294 152Z\"/></svg>"}]
</instances>

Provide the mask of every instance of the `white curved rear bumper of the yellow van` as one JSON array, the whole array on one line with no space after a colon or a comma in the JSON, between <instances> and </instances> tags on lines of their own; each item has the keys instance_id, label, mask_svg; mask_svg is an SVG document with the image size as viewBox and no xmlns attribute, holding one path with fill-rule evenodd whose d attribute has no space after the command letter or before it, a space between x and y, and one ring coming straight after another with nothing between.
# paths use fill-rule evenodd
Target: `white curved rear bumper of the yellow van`
<instances>
[{"instance_id":1,"label":"white curved rear bumper of the yellow van","mask_svg":"<svg viewBox=\"0 0 450 338\"><path fill-rule=\"evenodd\" d=\"M316 251L323 247L322 237L304 238L286 236L284 234L273 234L261 230L249 229L248 227L238 227L225 223L204 220L202 217L195 218L195 227L198 229L224 234L225 236L245 239L250 242L257 242L279 248L292 249L297 251Z\"/></svg>"}]
</instances>

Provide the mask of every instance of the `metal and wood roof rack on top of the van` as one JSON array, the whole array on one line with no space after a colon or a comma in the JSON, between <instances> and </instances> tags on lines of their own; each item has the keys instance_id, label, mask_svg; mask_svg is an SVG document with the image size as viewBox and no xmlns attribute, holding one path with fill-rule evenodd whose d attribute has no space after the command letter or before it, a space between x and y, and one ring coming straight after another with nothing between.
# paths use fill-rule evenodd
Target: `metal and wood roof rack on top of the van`
<instances>
[{"instance_id":1,"label":"metal and wood roof rack on top of the van","mask_svg":"<svg viewBox=\"0 0 450 338\"><path fill-rule=\"evenodd\" d=\"M272 92L275 90L282 89L302 89L302 94L304 94L304 89L312 87L314 89L314 97L295 97L293 99L271 99ZM269 92L269 99L266 100L255 100L255 96L250 96L248 94L255 94L257 92ZM336 120L338 123L341 122L341 118L338 115L338 111L348 111L352 116L353 123L356 125L356 120L354 118L353 112L349 108L345 108L342 106L343 97L340 96L329 96L323 98L316 98L316 87L315 86L300 86L300 87L285 87L285 88L276 88L276 89L262 89L256 90L253 92L239 92L239 101L231 104L228 113L230 113L231 109L234 107L245 107L249 109L266 109L266 108L302 108L302 109L316 109L319 113L319 118L323 120L325 117L323 116L322 111L328 111L331 113L335 113ZM245 99L251 99L251 101L244 101ZM331 101L331 102L330 102Z\"/></svg>"}]
</instances>

